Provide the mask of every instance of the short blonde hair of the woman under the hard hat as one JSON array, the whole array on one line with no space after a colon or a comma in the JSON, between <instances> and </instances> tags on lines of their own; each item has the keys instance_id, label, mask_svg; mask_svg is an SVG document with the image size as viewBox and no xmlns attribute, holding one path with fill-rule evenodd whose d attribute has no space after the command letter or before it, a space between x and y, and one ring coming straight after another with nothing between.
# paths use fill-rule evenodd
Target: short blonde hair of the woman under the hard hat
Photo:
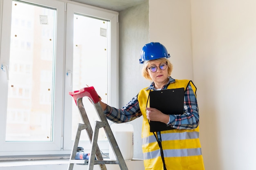
<instances>
[{"instance_id":1,"label":"short blonde hair of the woman under the hard hat","mask_svg":"<svg viewBox=\"0 0 256 170\"><path fill-rule=\"evenodd\" d=\"M142 73L142 76L145 78L145 79L148 79L150 81L152 81L151 77L149 76L148 74L148 71L147 71L147 67L152 63L152 61L157 61L157 62L162 62L162 63L167 63L167 69L168 69L168 77L171 76L171 72L173 71L173 64L171 64L171 62L166 59L166 58L158 58L158 59L155 59L155 60L148 60L148 61L144 61L144 65L143 65L143 68L141 70L141 73Z\"/></svg>"}]
</instances>

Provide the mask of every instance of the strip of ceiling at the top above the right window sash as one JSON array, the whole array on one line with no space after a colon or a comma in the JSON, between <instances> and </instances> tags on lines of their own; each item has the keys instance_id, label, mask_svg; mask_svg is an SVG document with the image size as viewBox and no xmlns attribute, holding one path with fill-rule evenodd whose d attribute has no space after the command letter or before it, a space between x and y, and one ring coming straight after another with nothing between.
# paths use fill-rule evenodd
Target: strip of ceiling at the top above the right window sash
<instances>
[{"instance_id":1,"label":"strip of ceiling at the top above the right window sash","mask_svg":"<svg viewBox=\"0 0 256 170\"><path fill-rule=\"evenodd\" d=\"M112 11L123 11L130 7L136 6L145 2L146 0L71 0L74 2L80 2L83 4L92 5Z\"/></svg>"}]
</instances>

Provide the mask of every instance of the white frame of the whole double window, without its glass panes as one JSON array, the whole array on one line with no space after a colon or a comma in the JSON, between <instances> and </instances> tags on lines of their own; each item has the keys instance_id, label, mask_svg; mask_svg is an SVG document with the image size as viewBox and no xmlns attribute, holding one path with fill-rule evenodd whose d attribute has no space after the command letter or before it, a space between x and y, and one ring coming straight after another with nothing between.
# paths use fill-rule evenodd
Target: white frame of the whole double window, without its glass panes
<instances>
[{"instance_id":1,"label":"white frame of the whole double window, without its glass panes","mask_svg":"<svg viewBox=\"0 0 256 170\"><path fill-rule=\"evenodd\" d=\"M7 89L8 79L6 72L0 71L0 157L18 155L60 155L70 154L73 146L71 141L71 117L72 102L74 100L69 91L72 91L70 82L65 73L72 71L73 56L73 25L70 24L75 13L110 20L111 39L110 55L108 60L108 94L111 106L118 106L118 13L92 7L85 4L65 0L22 0L42 6L57 9L56 17L56 66L55 66L55 98L54 98L54 132L53 141L43 142L6 142L6 119L7 119ZM68 3L67 3L68 2ZM9 66L10 36L11 36L11 8L12 0L0 0L0 66ZM4 42L4 43L3 43ZM65 57L66 56L66 57ZM5 113L5 114L4 114ZM89 144L89 141L87 142ZM99 147L108 151L108 141L100 142ZM85 150L89 149L85 148ZM103 152L104 152L103 151Z\"/></svg>"}]
</instances>

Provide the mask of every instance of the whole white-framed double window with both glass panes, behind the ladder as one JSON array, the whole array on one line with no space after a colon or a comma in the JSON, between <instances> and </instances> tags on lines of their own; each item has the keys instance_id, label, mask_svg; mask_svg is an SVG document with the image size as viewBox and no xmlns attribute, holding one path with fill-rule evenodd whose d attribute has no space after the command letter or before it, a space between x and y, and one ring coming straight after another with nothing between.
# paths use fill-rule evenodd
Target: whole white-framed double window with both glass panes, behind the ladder
<instances>
[{"instance_id":1,"label":"whole white-framed double window with both glass panes, behind the ladder","mask_svg":"<svg viewBox=\"0 0 256 170\"><path fill-rule=\"evenodd\" d=\"M117 13L58 0L3 0L1 10L0 156L70 154L81 118L68 92L88 84L117 106ZM103 131L99 140L108 150Z\"/></svg>"}]
</instances>

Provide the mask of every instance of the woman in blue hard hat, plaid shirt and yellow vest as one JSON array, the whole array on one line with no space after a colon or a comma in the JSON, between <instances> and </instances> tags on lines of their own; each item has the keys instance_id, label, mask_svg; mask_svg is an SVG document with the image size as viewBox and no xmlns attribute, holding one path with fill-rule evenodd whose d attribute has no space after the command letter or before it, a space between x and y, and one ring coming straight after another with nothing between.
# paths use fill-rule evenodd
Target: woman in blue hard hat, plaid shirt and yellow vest
<instances>
[{"instance_id":1,"label":"woman in blue hard hat, plaid shirt and yellow vest","mask_svg":"<svg viewBox=\"0 0 256 170\"><path fill-rule=\"evenodd\" d=\"M199 115L196 88L189 80L171 77L170 55L159 42L146 44L141 50L140 63L144 64L142 75L152 81L149 87L121 109L100 101L106 117L116 123L132 121L143 116L142 150L145 170L204 170L199 141ZM148 107L150 91L184 88L184 113L166 115L156 108ZM149 121L160 121L172 130L150 132Z\"/></svg>"}]
</instances>

